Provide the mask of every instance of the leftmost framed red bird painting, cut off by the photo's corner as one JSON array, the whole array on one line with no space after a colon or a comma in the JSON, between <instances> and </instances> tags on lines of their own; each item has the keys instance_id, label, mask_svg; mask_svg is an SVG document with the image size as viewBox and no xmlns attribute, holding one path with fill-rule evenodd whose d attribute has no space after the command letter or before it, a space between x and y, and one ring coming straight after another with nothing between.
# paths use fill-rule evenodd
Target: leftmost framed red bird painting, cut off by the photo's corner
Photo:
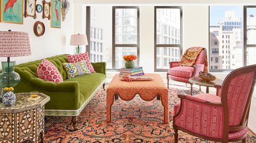
<instances>
[{"instance_id":1,"label":"leftmost framed red bird painting, cut off by the photo's corner","mask_svg":"<svg viewBox=\"0 0 256 143\"><path fill-rule=\"evenodd\" d=\"M1 0L1 22L23 24L23 0Z\"/></svg>"}]
</instances>

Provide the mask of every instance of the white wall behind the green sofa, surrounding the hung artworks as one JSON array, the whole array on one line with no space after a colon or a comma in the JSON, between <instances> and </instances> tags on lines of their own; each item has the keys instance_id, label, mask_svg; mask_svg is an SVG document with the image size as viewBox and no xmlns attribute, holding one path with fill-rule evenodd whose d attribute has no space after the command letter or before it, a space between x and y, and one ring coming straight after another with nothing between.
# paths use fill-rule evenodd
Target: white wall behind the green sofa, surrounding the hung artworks
<instances>
[{"instance_id":1,"label":"white wall behind the green sofa, surrounding the hung artworks","mask_svg":"<svg viewBox=\"0 0 256 143\"><path fill-rule=\"evenodd\" d=\"M49 1L49 0L48 0ZM42 4L42 1L36 1L36 4ZM24 18L23 25L0 23L0 31L25 31L30 36L31 56L13 57L11 61L17 64L27 61L39 60L49 56L60 55L62 53L73 53L74 47L70 46L70 35L73 34L73 1L70 1L70 10L65 21L62 21L61 28L51 28L51 20L42 18L41 13L36 13L36 19L32 17ZM41 37L34 34L33 26L36 21L41 21L45 26L45 33ZM0 58L0 61L6 61L7 58ZM1 68L0 68L1 69Z\"/></svg>"}]
</instances>

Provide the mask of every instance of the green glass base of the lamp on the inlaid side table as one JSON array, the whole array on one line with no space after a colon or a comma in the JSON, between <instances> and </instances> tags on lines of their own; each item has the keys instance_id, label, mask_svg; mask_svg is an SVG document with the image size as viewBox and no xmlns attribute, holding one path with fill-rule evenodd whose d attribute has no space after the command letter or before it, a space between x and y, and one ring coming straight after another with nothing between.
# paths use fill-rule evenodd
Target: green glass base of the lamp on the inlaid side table
<instances>
[{"instance_id":1,"label":"green glass base of the lamp on the inlaid side table","mask_svg":"<svg viewBox=\"0 0 256 143\"><path fill-rule=\"evenodd\" d=\"M2 73L0 74L1 97L6 93L4 87L15 87L20 82L20 75L14 71L15 61L2 61Z\"/></svg>"}]
</instances>

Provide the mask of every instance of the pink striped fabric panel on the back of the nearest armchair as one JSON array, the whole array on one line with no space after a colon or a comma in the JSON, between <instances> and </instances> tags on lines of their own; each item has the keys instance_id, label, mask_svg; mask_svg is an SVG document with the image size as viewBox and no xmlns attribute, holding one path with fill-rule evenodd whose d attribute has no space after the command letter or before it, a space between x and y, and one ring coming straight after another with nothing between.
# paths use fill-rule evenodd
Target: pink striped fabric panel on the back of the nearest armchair
<instances>
[{"instance_id":1,"label":"pink striped fabric panel on the back of the nearest armchair","mask_svg":"<svg viewBox=\"0 0 256 143\"><path fill-rule=\"evenodd\" d=\"M229 126L239 125L249 98L254 72L237 75L231 80L228 88Z\"/></svg>"}]
</instances>

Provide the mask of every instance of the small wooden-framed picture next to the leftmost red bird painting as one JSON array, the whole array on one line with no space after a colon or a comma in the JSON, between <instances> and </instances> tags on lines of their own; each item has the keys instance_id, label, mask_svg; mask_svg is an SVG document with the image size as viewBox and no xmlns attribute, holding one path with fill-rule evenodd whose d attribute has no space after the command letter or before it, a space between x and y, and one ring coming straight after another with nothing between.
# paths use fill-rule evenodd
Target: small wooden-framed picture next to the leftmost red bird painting
<instances>
[{"instance_id":1,"label":"small wooden-framed picture next to the leftmost red bird painting","mask_svg":"<svg viewBox=\"0 0 256 143\"><path fill-rule=\"evenodd\" d=\"M25 0L24 17L36 18L36 0Z\"/></svg>"}]
</instances>

